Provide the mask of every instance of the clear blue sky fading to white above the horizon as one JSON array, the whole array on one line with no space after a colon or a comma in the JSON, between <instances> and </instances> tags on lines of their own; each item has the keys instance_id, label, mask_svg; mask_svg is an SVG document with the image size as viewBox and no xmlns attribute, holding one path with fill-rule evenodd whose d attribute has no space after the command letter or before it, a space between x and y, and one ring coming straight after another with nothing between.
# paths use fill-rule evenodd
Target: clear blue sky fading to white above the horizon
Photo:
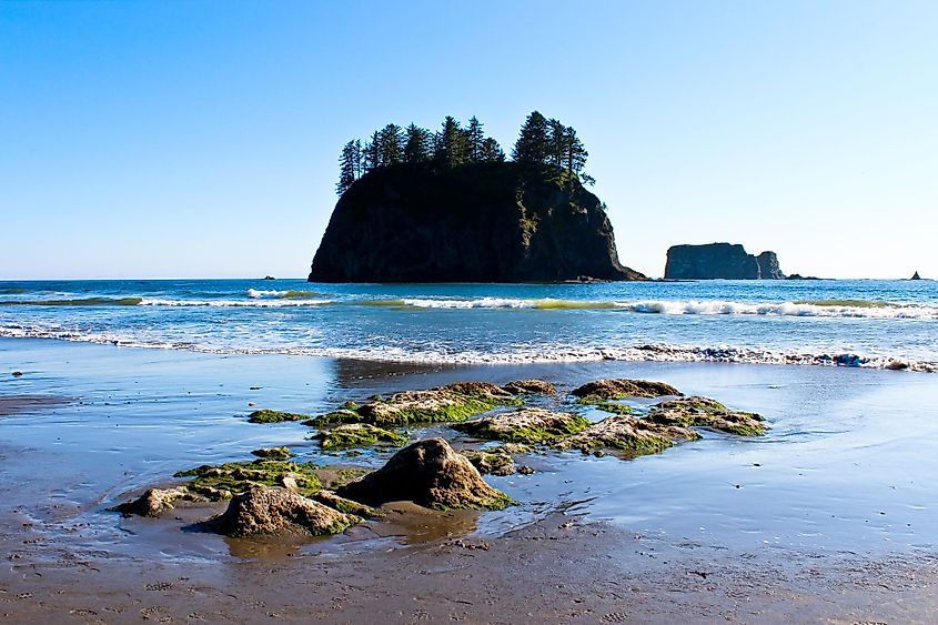
<instances>
[{"instance_id":1,"label":"clear blue sky fading to white above the horizon","mask_svg":"<svg viewBox=\"0 0 938 625\"><path fill-rule=\"evenodd\" d=\"M0 279L303 276L337 154L577 129L622 261L938 278L938 2L0 2Z\"/></svg>"}]
</instances>

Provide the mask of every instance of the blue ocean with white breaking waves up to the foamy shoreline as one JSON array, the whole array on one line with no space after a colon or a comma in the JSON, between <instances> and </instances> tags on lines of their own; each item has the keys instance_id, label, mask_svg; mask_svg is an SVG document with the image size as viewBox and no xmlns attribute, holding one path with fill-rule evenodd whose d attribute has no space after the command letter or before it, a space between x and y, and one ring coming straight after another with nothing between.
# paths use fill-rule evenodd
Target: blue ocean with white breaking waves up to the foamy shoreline
<instances>
[{"instance_id":1,"label":"blue ocean with white breaking waves up to the foamy shoreline","mask_svg":"<svg viewBox=\"0 0 938 625\"><path fill-rule=\"evenodd\" d=\"M0 282L0 336L420 364L712 361L935 372L938 283Z\"/></svg>"}]
</instances>

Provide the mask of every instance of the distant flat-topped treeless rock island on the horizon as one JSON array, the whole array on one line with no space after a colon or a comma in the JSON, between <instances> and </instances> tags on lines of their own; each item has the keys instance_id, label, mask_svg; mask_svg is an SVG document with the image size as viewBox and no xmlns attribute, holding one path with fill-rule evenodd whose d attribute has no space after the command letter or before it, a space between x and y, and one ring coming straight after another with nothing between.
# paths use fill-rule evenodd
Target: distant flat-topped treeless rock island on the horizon
<instances>
[{"instance_id":1,"label":"distant flat-topped treeless rock island on the horizon","mask_svg":"<svg viewBox=\"0 0 938 625\"><path fill-rule=\"evenodd\" d=\"M784 280L775 252L754 256L739 244L674 245L667 251L668 280Z\"/></svg>"}]
</instances>

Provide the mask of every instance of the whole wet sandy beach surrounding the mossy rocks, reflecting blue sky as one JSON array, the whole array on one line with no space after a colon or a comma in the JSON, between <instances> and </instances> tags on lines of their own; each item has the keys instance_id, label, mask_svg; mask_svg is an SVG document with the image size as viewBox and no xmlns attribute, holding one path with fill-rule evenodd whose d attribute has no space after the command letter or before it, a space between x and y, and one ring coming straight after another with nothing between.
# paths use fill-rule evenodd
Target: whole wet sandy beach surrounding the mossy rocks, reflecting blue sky
<instances>
[{"instance_id":1,"label":"whole wet sandy beach surrounding the mossy rocks, reflecting blue sky","mask_svg":"<svg viewBox=\"0 0 938 625\"><path fill-rule=\"evenodd\" d=\"M0 341L0 614L10 622L930 622L938 376L753 365L397 367ZM248 403L317 412L454 380L664 380L769 419L631 462L532 456L504 513L420 513L317 541L185 532L211 511L105 512L194 464L291 445ZM24 407L23 407L24 406ZM432 432L428 432L432 433ZM385 452L355 462L376 466Z\"/></svg>"}]
</instances>

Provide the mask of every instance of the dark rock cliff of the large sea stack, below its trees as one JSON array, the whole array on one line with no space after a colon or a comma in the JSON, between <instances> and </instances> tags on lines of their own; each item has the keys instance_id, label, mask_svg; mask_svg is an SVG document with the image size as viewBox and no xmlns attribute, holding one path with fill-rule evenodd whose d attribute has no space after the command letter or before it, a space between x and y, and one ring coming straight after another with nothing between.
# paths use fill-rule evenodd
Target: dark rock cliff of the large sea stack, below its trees
<instances>
[{"instance_id":1,"label":"dark rock cliff of the large sea stack, below its trees","mask_svg":"<svg viewBox=\"0 0 938 625\"><path fill-rule=\"evenodd\" d=\"M515 163L382 168L339 200L311 282L643 280L599 200Z\"/></svg>"}]
</instances>

